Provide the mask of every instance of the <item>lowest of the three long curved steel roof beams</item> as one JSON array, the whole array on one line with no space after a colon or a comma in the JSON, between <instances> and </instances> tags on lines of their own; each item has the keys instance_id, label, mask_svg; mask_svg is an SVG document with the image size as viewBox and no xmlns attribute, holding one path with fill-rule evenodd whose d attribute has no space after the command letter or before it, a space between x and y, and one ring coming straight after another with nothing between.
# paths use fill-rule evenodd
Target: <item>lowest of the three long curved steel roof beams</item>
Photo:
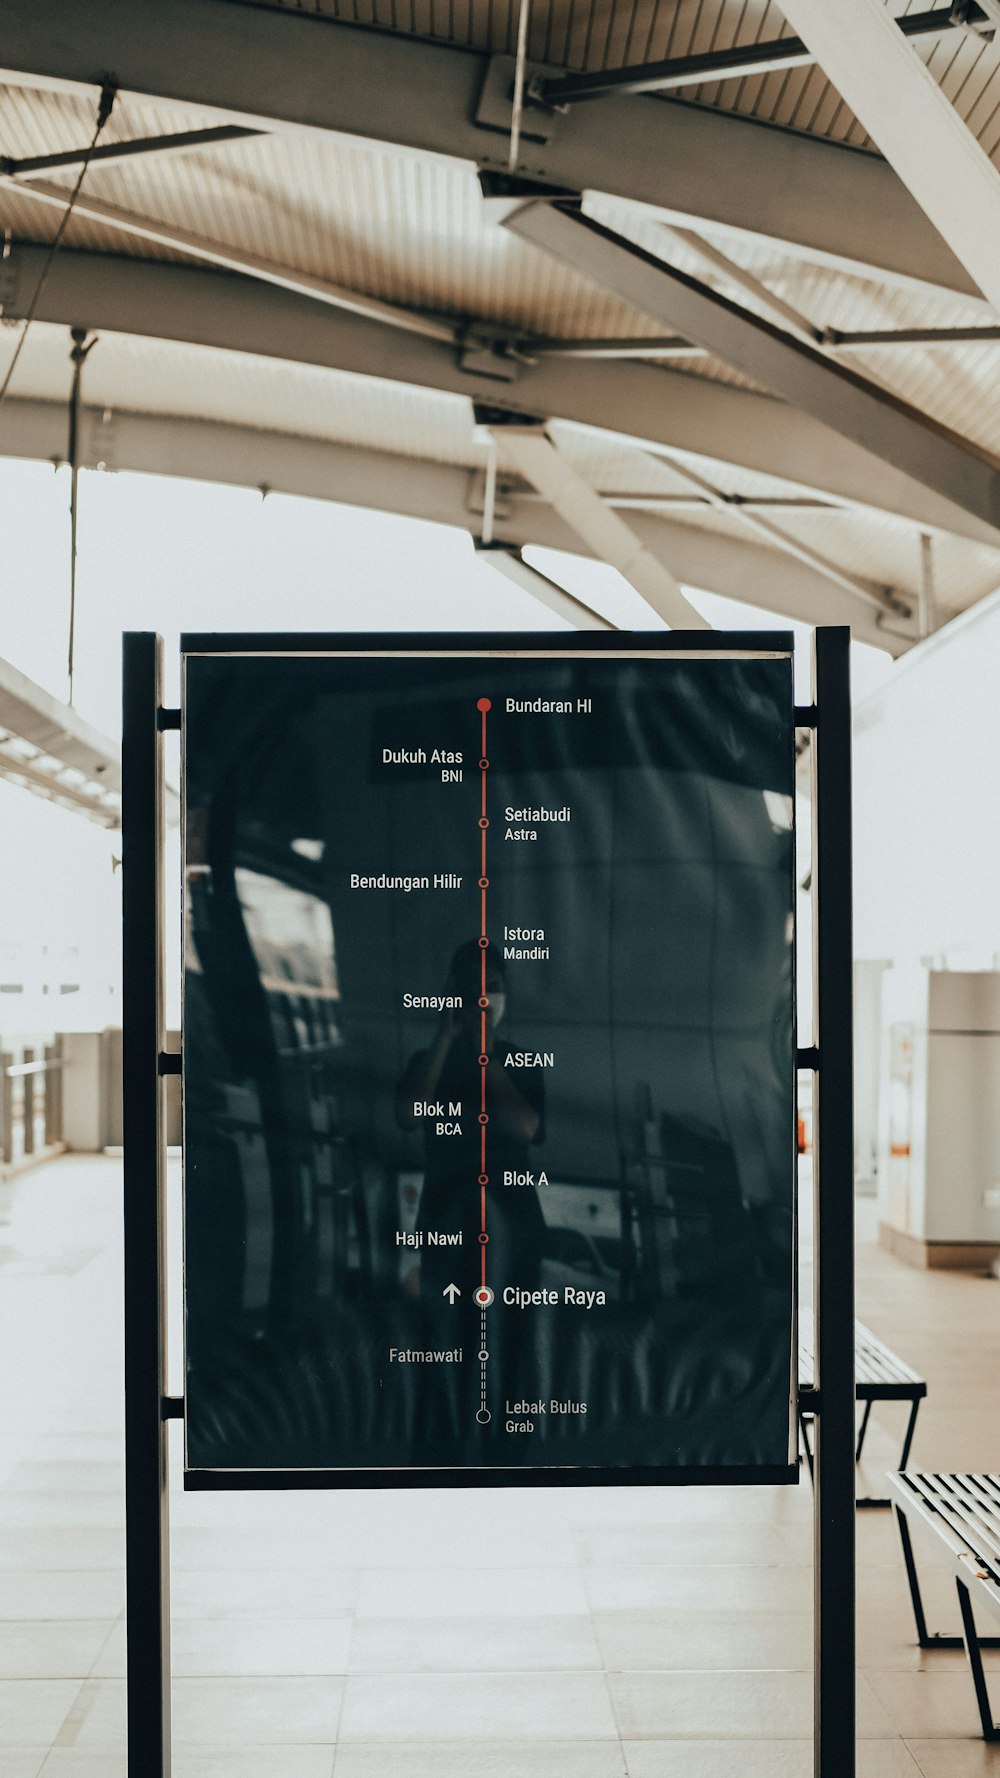
<instances>
[{"instance_id":1,"label":"lowest of the three long curved steel roof beams","mask_svg":"<svg viewBox=\"0 0 1000 1778\"><path fill-rule=\"evenodd\" d=\"M2 455L53 462L62 459L64 450L66 414L59 402L7 396L0 428ZM105 416L100 409L89 409L84 414L80 461L85 468L107 464L114 469L333 500L473 533L480 528L477 501L470 501L466 468L326 439L123 411ZM701 587L810 624L851 624L861 642L872 642L891 654L904 653L916 640L911 624L881 619L861 599L765 544L649 512L635 512L630 525L687 587ZM537 544L571 555L591 553L548 503L523 500L505 489L498 493L495 539L518 549Z\"/></svg>"}]
</instances>

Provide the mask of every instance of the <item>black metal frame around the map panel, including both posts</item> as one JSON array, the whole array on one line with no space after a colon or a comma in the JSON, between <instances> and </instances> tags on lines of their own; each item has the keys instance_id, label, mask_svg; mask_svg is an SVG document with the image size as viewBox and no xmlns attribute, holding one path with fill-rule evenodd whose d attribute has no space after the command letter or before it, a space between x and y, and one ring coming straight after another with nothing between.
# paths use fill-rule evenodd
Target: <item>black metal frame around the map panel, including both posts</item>
<instances>
[{"instance_id":1,"label":"black metal frame around the map panel, including both posts","mask_svg":"<svg viewBox=\"0 0 1000 1778\"><path fill-rule=\"evenodd\" d=\"M418 635L391 638L411 653L560 653L591 642L557 635ZM384 637L199 635L185 653L304 654L386 649ZM815 1773L854 1773L854 1129L851 921L851 633L820 628L813 702L795 724L813 731L815 1033L797 1051L815 1076L815 1387L797 1408L815 1415ZM788 653L786 633L655 631L593 638L601 651ZM164 1049L164 763L162 736L180 709L162 702L162 640L125 637L123 910L125 910L125 1389L128 1774L169 1778L169 1490L167 1421L183 1398L165 1366L165 1124L162 1083L180 1074ZM407 1485L593 1485L680 1481L655 1470L445 1470ZM705 1472L694 1479L706 1481ZM722 1476L719 1478L722 1479ZM730 1478L731 1479L731 1474ZM754 1474L754 1479L765 1479ZM187 1486L399 1486L399 1472L238 1470L185 1478Z\"/></svg>"}]
</instances>

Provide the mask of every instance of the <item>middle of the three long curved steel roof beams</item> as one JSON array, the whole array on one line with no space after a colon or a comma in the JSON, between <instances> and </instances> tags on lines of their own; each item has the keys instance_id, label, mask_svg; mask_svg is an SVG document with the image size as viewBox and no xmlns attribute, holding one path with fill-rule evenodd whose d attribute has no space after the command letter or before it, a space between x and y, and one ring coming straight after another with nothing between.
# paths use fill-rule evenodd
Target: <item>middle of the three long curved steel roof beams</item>
<instances>
[{"instance_id":1,"label":"middle of the three long curved steel roof beams","mask_svg":"<svg viewBox=\"0 0 1000 1778\"><path fill-rule=\"evenodd\" d=\"M44 249L14 244L4 313L23 318ZM39 322L258 354L297 364L445 389L539 420L617 432L774 475L802 491L884 510L922 530L996 546L993 526L943 500L786 402L662 366L543 359L504 386L463 370L456 352L290 290L198 265L60 252L37 304ZM509 391L509 393L507 393ZM0 427L2 430L2 427Z\"/></svg>"}]
</instances>

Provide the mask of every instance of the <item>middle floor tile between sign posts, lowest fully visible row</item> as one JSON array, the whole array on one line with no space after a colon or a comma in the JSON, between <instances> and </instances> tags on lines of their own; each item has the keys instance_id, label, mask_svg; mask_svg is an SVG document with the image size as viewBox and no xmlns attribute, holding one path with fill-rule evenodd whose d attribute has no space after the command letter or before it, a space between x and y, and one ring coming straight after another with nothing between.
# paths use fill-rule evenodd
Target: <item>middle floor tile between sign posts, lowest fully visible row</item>
<instances>
[{"instance_id":1,"label":"middle floor tile between sign posts, lowest fully visible row","mask_svg":"<svg viewBox=\"0 0 1000 1778\"><path fill-rule=\"evenodd\" d=\"M351 1677L340 1739L352 1741L616 1739L601 1673Z\"/></svg>"}]
</instances>

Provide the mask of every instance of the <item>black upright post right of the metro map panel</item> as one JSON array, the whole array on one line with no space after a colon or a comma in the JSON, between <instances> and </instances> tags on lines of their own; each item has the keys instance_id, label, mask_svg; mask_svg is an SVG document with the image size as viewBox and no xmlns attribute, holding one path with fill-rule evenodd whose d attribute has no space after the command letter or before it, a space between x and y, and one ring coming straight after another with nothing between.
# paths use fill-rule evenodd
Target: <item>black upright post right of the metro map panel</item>
<instances>
[{"instance_id":1,"label":"black upright post right of the metro map panel","mask_svg":"<svg viewBox=\"0 0 1000 1778\"><path fill-rule=\"evenodd\" d=\"M815 631L815 1774L854 1753L854 1029L851 631Z\"/></svg>"}]
</instances>

